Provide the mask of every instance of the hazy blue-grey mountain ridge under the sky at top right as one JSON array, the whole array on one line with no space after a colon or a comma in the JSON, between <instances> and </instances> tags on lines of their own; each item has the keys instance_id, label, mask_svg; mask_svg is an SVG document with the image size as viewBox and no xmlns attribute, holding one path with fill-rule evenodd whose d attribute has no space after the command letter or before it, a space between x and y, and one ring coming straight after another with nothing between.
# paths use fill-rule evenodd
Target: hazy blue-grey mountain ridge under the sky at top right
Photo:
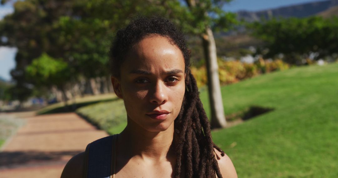
<instances>
[{"instance_id":1,"label":"hazy blue-grey mountain ridge under the sky at top right","mask_svg":"<svg viewBox=\"0 0 338 178\"><path fill-rule=\"evenodd\" d=\"M284 6L275 9L261 11L238 11L237 18L247 22L259 21L262 17L270 19L272 17L308 17L326 11L334 6L338 6L338 0L326 0L318 2L309 2L291 6ZM337 10L337 9L336 9ZM337 13L337 12L336 12Z\"/></svg>"}]
</instances>

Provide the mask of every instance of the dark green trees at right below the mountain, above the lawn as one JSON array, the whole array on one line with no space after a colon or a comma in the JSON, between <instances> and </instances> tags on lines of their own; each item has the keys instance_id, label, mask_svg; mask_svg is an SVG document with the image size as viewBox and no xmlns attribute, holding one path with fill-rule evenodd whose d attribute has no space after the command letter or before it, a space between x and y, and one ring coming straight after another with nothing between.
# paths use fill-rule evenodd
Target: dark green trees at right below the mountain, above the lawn
<instances>
[{"instance_id":1,"label":"dark green trees at right below the mountain, above the lawn","mask_svg":"<svg viewBox=\"0 0 338 178\"><path fill-rule=\"evenodd\" d=\"M268 48L265 57L284 54L289 63L298 64L310 53L315 59L338 53L338 18L322 17L272 19L248 25L252 35ZM303 56L303 57L302 57Z\"/></svg>"}]
</instances>

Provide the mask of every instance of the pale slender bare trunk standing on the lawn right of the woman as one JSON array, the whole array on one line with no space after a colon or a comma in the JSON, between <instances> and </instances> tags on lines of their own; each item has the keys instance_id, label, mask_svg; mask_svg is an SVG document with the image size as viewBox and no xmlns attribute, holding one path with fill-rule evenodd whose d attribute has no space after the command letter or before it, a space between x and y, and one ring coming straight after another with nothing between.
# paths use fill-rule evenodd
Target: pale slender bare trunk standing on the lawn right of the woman
<instances>
[{"instance_id":1,"label":"pale slender bare trunk standing on the lawn right of the woman","mask_svg":"<svg viewBox=\"0 0 338 178\"><path fill-rule=\"evenodd\" d=\"M218 76L217 52L214 35L210 27L202 34L203 51L207 64L208 91L211 109L211 127L225 127L224 107Z\"/></svg>"}]
</instances>

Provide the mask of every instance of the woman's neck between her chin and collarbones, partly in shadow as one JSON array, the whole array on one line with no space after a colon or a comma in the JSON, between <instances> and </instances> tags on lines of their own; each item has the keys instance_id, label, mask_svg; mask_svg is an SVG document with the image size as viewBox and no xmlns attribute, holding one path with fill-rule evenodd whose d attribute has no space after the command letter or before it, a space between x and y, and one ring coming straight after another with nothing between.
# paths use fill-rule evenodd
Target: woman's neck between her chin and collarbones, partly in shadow
<instances>
[{"instance_id":1,"label":"woman's neck between her chin and collarbones, partly in shadow","mask_svg":"<svg viewBox=\"0 0 338 178\"><path fill-rule=\"evenodd\" d=\"M118 144L129 158L140 156L144 160L161 161L174 157L174 123L160 132L150 132L128 118L126 128L119 134Z\"/></svg>"}]
</instances>

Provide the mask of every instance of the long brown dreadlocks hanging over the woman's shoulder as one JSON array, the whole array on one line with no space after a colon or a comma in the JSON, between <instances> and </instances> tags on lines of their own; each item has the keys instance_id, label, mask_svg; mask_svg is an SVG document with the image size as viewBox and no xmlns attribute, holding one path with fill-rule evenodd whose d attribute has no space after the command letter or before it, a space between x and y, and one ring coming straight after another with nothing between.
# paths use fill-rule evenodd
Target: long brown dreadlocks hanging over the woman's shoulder
<instances>
[{"instance_id":1,"label":"long brown dreadlocks hanging over the woman's shoulder","mask_svg":"<svg viewBox=\"0 0 338 178\"><path fill-rule=\"evenodd\" d=\"M175 130L179 132L175 176L179 178L182 169L185 169L185 177L215 177L216 172L220 178L222 175L214 148L222 156L224 152L212 141L209 120L199 99L196 80L190 71L186 86L182 108L175 120Z\"/></svg>"}]
</instances>

